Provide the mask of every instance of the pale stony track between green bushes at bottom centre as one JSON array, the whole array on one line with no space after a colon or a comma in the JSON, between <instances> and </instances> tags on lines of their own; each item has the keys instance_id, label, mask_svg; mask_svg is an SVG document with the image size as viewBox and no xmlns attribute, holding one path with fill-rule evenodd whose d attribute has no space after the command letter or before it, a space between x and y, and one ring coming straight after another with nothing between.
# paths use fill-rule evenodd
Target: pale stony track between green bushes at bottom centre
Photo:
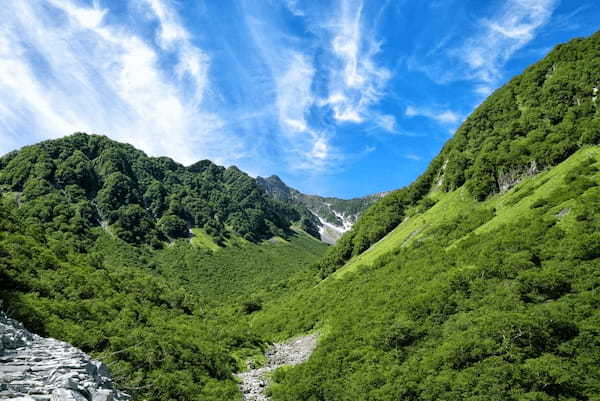
<instances>
[{"instance_id":1,"label":"pale stony track between green bushes at bottom centre","mask_svg":"<svg viewBox=\"0 0 600 401\"><path fill-rule=\"evenodd\" d=\"M236 376L241 380L240 389L246 401L269 401L265 394L267 375L281 367L302 363L310 357L317 344L317 336L309 334L281 344L274 344L266 352L267 364Z\"/></svg>"}]
</instances>

